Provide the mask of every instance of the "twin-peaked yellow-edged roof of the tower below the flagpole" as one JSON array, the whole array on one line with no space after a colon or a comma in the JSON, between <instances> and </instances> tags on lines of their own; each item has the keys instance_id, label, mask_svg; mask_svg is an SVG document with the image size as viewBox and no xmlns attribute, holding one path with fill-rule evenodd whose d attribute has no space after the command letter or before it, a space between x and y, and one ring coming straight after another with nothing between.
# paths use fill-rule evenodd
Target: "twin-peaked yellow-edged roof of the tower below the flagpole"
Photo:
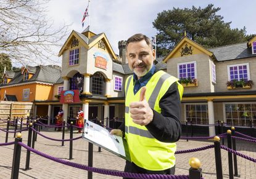
<instances>
[{"instance_id":1,"label":"twin-peaked yellow-edged roof of the tower below the flagpole","mask_svg":"<svg viewBox=\"0 0 256 179\"><path fill-rule=\"evenodd\" d=\"M68 39L65 42L64 46L62 46L62 48L60 49L60 52L59 52L59 55L58 55L59 57L60 57L60 55L63 54L63 52L65 50L67 50L68 42L70 42L70 40L73 38L73 36L75 36L75 38L77 38L78 41L81 42L82 46L86 47L86 49L91 49L91 47L93 47L95 44L97 44L97 42L99 42L100 40L103 40L105 42L105 45L106 45L107 49L109 49L110 54L112 54L113 58L117 59L117 55L115 55L114 50L110 46L109 40L105 36L105 33L95 34L91 38L88 38L88 37L85 36L85 34L78 33L74 30L68 36Z\"/></svg>"}]
</instances>

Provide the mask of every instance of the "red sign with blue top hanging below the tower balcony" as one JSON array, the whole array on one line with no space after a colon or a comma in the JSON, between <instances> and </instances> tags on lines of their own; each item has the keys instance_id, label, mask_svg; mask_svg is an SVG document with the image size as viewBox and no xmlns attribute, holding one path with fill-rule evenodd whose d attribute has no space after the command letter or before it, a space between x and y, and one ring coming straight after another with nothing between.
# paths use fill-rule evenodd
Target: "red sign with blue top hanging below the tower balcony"
<instances>
[{"instance_id":1,"label":"red sign with blue top hanging below the tower balcony","mask_svg":"<svg viewBox=\"0 0 256 179\"><path fill-rule=\"evenodd\" d=\"M79 90L65 90L61 92L60 103L79 103Z\"/></svg>"}]
</instances>

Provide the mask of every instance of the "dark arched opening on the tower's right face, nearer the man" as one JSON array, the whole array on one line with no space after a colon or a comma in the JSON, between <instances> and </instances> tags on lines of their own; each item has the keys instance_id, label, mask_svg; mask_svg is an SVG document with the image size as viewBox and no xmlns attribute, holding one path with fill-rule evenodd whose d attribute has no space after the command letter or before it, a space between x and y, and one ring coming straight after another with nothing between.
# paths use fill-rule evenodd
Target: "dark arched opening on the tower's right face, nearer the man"
<instances>
[{"instance_id":1,"label":"dark arched opening on the tower's right face, nearer the man","mask_svg":"<svg viewBox=\"0 0 256 179\"><path fill-rule=\"evenodd\" d=\"M105 78L104 76L96 72L91 77L91 91L93 95L104 95Z\"/></svg>"}]
</instances>

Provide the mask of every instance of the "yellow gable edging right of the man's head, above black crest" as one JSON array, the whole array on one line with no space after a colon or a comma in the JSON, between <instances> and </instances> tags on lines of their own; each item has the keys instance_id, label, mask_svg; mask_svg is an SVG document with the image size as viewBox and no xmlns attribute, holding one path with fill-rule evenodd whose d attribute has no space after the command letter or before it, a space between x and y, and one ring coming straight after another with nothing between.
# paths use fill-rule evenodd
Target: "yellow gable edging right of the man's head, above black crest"
<instances>
[{"instance_id":1,"label":"yellow gable edging right of the man's head, above black crest","mask_svg":"<svg viewBox=\"0 0 256 179\"><path fill-rule=\"evenodd\" d=\"M184 36L180 42L178 42L178 44L175 46L175 48L173 50L171 50L171 52L169 54L167 54L164 58L163 58L163 62L167 62L168 59L170 59L178 49L180 49L180 47L184 44L184 42L188 42L189 44L191 44L194 47L197 47L197 49L201 50L202 52L204 52L205 54L209 55L210 57L215 58L215 56L213 55L212 52L210 52L209 50L205 49L205 47L201 46L200 44L197 44L197 42L192 41L191 39L187 38L186 36ZM216 58L215 58L216 59Z\"/></svg>"}]
</instances>

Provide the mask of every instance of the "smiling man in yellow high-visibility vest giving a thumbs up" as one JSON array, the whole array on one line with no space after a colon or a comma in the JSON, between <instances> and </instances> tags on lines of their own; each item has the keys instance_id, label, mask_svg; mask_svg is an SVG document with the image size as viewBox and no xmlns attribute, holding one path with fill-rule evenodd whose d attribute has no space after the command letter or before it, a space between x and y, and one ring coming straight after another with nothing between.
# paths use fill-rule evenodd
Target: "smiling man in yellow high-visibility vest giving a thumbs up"
<instances>
[{"instance_id":1,"label":"smiling man in yellow high-visibility vest giving a thumbs up","mask_svg":"<svg viewBox=\"0 0 256 179\"><path fill-rule=\"evenodd\" d=\"M126 161L125 172L173 175L183 87L155 68L155 50L147 36L128 39L126 58L133 76L125 84L125 124L110 132L127 140L132 162Z\"/></svg>"}]
</instances>

